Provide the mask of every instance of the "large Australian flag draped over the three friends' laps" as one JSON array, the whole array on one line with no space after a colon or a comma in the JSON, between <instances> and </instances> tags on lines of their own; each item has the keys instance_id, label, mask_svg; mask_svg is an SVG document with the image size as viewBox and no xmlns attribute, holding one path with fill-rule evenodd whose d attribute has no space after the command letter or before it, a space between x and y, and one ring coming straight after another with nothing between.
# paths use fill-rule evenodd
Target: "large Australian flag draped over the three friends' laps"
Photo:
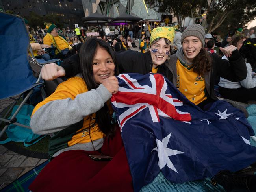
<instances>
[{"instance_id":1,"label":"large Australian flag draped over the three friends' laps","mask_svg":"<svg viewBox=\"0 0 256 192\"><path fill-rule=\"evenodd\" d=\"M171 182L237 171L256 162L252 127L225 101L203 111L160 74L120 74L111 102L121 127L134 190L161 171Z\"/></svg>"}]
</instances>

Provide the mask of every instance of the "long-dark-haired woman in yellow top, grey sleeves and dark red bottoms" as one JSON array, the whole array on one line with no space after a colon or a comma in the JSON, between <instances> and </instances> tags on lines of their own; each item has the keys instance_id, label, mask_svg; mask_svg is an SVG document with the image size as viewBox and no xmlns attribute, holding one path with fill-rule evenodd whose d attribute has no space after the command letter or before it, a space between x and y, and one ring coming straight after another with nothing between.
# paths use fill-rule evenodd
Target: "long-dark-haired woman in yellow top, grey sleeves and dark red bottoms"
<instances>
[{"instance_id":1,"label":"long-dark-haired woman in yellow top, grey sleeves and dark red bottoms","mask_svg":"<svg viewBox=\"0 0 256 192\"><path fill-rule=\"evenodd\" d=\"M54 136L49 143L52 160L30 190L132 191L132 177L109 100L119 88L113 50L102 39L91 38L82 45L79 59L81 74L61 83L32 113L33 132ZM89 155L113 159L95 161Z\"/></svg>"}]
</instances>

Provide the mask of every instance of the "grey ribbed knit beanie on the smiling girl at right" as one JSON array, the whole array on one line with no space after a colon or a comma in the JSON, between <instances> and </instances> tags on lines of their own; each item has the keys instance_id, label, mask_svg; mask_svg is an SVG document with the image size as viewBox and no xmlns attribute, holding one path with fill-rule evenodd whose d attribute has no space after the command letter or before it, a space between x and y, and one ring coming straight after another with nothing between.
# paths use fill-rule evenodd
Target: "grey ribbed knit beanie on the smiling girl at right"
<instances>
[{"instance_id":1,"label":"grey ribbed knit beanie on the smiling girl at right","mask_svg":"<svg viewBox=\"0 0 256 192\"><path fill-rule=\"evenodd\" d=\"M187 28L182 33L182 36L180 39L181 44L183 43L183 40L189 36L195 36L198 39L200 39L200 41L202 42L202 46L204 47L205 32L204 32L204 28L200 24L193 24L193 25L187 26Z\"/></svg>"}]
</instances>

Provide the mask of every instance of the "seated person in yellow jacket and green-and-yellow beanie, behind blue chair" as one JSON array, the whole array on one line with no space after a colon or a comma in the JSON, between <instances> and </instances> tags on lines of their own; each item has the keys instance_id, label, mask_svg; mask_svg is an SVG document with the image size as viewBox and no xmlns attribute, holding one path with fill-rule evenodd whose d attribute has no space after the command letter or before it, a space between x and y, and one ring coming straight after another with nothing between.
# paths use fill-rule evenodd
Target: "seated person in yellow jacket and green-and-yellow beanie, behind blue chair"
<instances>
[{"instance_id":1,"label":"seated person in yellow jacket and green-and-yellow beanie, behind blue chair","mask_svg":"<svg viewBox=\"0 0 256 192\"><path fill-rule=\"evenodd\" d=\"M52 23L44 23L47 34L44 37L44 43L49 46L56 47L55 55L59 59L65 58L69 50L72 49L70 44L61 36L58 35L56 25Z\"/></svg>"}]
</instances>

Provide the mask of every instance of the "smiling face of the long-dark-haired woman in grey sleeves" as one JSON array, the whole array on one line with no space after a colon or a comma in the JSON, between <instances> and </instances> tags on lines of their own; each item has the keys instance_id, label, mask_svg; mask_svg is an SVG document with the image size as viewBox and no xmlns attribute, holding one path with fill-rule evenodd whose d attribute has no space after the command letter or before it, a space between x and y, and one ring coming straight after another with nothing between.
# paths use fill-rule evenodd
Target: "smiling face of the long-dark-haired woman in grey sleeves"
<instances>
[{"instance_id":1,"label":"smiling face of the long-dark-haired woman in grey sleeves","mask_svg":"<svg viewBox=\"0 0 256 192\"><path fill-rule=\"evenodd\" d=\"M115 74L115 64L111 55L104 49L98 46L96 54L93 57L93 78L97 84L100 84L104 79Z\"/></svg>"}]
</instances>

